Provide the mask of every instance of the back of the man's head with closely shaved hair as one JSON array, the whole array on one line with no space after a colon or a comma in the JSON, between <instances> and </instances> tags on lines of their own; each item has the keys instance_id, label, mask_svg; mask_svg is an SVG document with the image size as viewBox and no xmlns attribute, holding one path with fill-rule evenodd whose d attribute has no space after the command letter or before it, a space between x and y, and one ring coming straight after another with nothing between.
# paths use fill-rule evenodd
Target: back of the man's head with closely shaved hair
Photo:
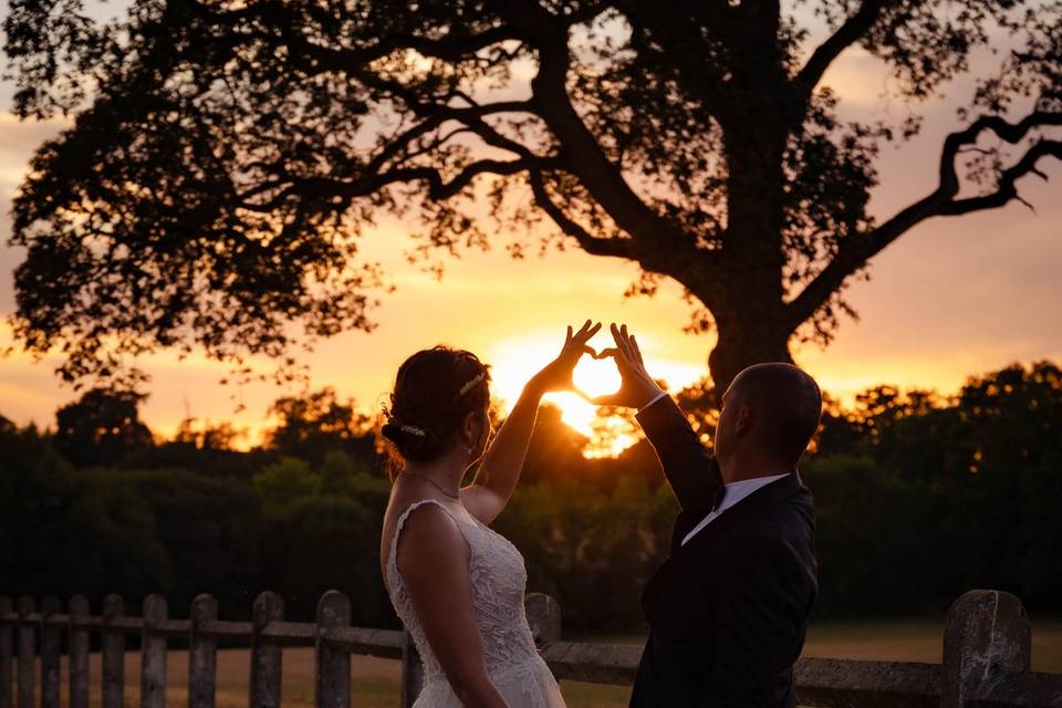
<instances>
[{"instance_id":1,"label":"back of the man's head with closely shaved hair","mask_svg":"<svg viewBox=\"0 0 1062 708\"><path fill-rule=\"evenodd\" d=\"M803 455L822 415L819 385L792 364L749 366L735 377L723 402L750 410L752 441L787 467Z\"/></svg>"}]
</instances>

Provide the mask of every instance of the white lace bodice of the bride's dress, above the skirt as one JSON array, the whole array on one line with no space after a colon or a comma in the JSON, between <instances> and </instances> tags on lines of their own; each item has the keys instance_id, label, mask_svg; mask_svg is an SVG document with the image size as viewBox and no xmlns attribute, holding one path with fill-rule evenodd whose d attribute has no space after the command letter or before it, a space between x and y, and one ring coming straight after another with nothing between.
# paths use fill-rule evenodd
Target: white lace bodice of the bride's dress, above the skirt
<instances>
[{"instance_id":1,"label":"white lace bodice of the bride's dress, above the skirt","mask_svg":"<svg viewBox=\"0 0 1062 708\"><path fill-rule=\"evenodd\" d=\"M509 669L538 662L534 638L523 610L528 573L520 551L503 535L479 521L459 518L435 499L421 499L410 504L398 518L387 558L387 591L395 612L413 636L424 660L425 683L446 679L417 622L405 582L398 572L396 550L409 514L426 503L434 503L449 514L468 542L472 604L482 634L488 674L494 678Z\"/></svg>"}]
</instances>

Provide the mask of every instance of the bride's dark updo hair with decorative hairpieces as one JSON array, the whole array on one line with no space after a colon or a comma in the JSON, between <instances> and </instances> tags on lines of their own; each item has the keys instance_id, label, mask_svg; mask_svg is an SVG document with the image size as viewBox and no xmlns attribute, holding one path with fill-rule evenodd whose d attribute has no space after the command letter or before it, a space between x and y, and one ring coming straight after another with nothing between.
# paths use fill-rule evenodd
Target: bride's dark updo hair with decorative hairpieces
<instances>
[{"instance_id":1,"label":"bride's dark updo hair with decorative hairpieces","mask_svg":"<svg viewBox=\"0 0 1062 708\"><path fill-rule=\"evenodd\" d=\"M489 402L490 373L479 357L442 345L421 350L398 367L381 434L402 460L430 462L450 450L465 416L485 415Z\"/></svg>"}]
</instances>

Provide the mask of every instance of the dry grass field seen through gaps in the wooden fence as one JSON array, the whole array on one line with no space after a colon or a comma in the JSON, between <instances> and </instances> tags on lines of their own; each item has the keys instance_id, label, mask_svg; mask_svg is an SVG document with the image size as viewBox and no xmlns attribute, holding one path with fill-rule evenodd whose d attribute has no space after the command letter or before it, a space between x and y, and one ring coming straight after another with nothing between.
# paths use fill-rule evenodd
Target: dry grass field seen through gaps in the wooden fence
<instances>
[{"instance_id":1,"label":"dry grass field seen through gaps in the wooden fence","mask_svg":"<svg viewBox=\"0 0 1062 708\"><path fill-rule=\"evenodd\" d=\"M809 632L804 656L871 660L939 662L943 624L931 621L851 622L813 625ZM641 644L638 636L586 637L586 641L612 641L617 644ZM1062 674L1062 620L1034 621L1032 633L1034 670ZM399 665L396 660L354 657L352 662L354 705L358 708L394 708L398 705ZM100 656L90 662L92 705L100 705ZM187 704L188 654L173 650L167 657L167 704ZM65 662L63 676L66 676ZM126 654L126 706L139 705L139 655ZM627 705L629 689L562 681L561 688L570 708L620 708ZM248 650L222 649L218 653L218 708L247 706ZM63 702L66 702L65 693ZM313 650L284 650L283 705L313 705Z\"/></svg>"}]
</instances>

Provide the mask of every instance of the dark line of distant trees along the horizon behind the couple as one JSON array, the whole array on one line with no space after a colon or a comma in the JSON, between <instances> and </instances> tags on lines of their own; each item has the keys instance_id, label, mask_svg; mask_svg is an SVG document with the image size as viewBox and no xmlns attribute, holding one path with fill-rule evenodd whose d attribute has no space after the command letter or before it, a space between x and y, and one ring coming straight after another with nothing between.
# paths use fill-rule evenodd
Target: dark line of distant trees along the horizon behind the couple
<instances>
[{"instance_id":1,"label":"dark line of distant trees along the horizon behind the couple","mask_svg":"<svg viewBox=\"0 0 1062 708\"><path fill-rule=\"evenodd\" d=\"M678 396L700 431L714 394ZM56 426L0 417L0 593L195 594L246 617L283 594L309 618L331 587L354 622L396 626L379 579L388 481L373 420L331 389L285 397L262 444L186 420L154 440L143 397L90 391ZM607 410L603 412L610 413ZM707 435L706 435L707 438ZM530 587L562 602L574 632L642 628L638 597L666 553L677 506L643 440L587 459L589 440L544 407L523 483L497 522L527 558ZM1062 371L1012 365L954 396L876 386L827 400L801 475L815 494L820 617L936 614L965 590L1062 612Z\"/></svg>"}]
</instances>

